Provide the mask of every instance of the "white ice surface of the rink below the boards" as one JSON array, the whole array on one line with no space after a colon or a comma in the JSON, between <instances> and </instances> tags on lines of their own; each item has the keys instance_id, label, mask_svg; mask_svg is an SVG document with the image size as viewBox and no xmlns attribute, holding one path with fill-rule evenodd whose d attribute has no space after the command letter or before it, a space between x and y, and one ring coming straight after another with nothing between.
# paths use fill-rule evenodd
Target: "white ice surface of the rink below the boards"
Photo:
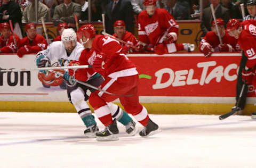
<instances>
[{"instance_id":1,"label":"white ice surface of the rink below the boards","mask_svg":"<svg viewBox=\"0 0 256 168\"><path fill-rule=\"evenodd\" d=\"M150 117L162 132L129 137L118 124L119 140L102 142L84 137L76 113L0 112L0 167L256 167L250 116Z\"/></svg>"}]
</instances>

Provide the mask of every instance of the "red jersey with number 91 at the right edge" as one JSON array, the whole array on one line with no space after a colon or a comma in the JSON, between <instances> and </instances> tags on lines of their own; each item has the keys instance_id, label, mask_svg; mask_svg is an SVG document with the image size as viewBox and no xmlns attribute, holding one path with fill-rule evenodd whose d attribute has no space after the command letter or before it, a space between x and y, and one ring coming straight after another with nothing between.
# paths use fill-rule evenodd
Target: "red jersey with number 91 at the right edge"
<instances>
[{"instance_id":1,"label":"red jersey with number 91 at the right edge","mask_svg":"<svg viewBox=\"0 0 256 168\"><path fill-rule=\"evenodd\" d=\"M243 23L243 30L238 37L238 44L247 56L246 66L256 65L256 20L247 20Z\"/></svg>"}]
</instances>

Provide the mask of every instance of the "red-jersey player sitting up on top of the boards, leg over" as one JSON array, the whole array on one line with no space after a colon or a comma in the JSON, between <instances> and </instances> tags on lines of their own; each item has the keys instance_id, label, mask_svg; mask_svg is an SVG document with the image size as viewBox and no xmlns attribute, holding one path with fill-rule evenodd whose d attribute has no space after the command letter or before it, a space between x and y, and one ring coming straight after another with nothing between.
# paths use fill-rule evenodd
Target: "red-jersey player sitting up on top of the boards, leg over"
<instances>
[{"instance_id":1,"label":"red-jersey player sitting up on top of the boards, leg over","mask_svg":"<svg viewBox=\"0 0 256 168\"><path fill-rule=\"evenodd\" d=\"M145 0L146 10L138 16L139 41L137 47L154 47L158 55L173 53L177 51L194 51L194 44L177 44L179 26L173 16L165 9L156 8L156 0Z\"/></svg>"}]
</instances>

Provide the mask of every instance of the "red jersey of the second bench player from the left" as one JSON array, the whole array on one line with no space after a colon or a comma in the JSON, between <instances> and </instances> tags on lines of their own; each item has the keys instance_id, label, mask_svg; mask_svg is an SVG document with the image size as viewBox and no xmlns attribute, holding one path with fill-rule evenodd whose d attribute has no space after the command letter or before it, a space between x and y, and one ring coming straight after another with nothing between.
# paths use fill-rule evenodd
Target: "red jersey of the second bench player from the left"
<instances>
[{"instance_id":1,"label":"red jersey of the second bench player from the left","mask_svg":"<svg viewBox=\"0 0 256 168\"><path fill-rule=\"evenodd\" d=\"M41 35L36 35L32 43L30 43L29 38L25 37L21 39L21 46L31 46L30 53L37 53L47 48L47 42L45 38Z\"/></svg>"}]
</instances>

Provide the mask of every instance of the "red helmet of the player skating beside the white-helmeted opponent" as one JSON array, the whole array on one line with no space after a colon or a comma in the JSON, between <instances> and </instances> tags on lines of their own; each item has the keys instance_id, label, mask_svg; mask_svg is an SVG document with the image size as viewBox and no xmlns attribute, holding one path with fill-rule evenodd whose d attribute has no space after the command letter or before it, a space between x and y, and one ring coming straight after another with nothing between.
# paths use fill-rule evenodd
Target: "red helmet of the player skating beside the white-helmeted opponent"
<instances>
[{"instance_id":1,"label":"red helmet of the player skating beside the white-helmeted opponent","mask_svg":"<svg viewBox=\"0 0 256 168\"><path fill-rule=\"evenodd\" d=\"M91 39L96 36L96 30L92 24L85 24L78 29L77 36L79 39L82 39L83 36Z\"/></svg>"}]
</instances>

